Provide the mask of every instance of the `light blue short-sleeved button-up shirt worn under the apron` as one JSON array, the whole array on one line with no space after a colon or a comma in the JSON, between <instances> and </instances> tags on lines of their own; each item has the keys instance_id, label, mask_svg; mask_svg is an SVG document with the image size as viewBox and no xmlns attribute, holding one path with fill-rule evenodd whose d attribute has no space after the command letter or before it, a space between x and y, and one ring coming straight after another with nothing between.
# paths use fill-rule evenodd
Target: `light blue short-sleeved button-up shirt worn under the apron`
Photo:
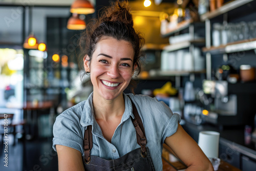
<instances>
[{"instance_id":1,"label":"light blue short-sleeved button-up shirt worn under the apron","mask_svg":"<svg viewBox=\"0 0 256 171\"><path fill-rule=\"evenodd\" d=\"M88 100L82 101L60 114L53 126L53 148L56 151L56 144L75 148L84 155L83 136L84 127L92 125L93 148L91 155L99 156L106 160L117 159L126 153L139 148L136 139L136 131L130 116L132 103L134 102L143 122L146 146L156 170L162 170L162 144L166 137L177 131L180 115L173 114L169 107L156 98L145 95L123 94L125 100L125 111L120 124L117 126L111 143L107 141L95 120L93 112L93 93ZM129 97L127 97L129 96Z\"/></svg>"}]
</instances>

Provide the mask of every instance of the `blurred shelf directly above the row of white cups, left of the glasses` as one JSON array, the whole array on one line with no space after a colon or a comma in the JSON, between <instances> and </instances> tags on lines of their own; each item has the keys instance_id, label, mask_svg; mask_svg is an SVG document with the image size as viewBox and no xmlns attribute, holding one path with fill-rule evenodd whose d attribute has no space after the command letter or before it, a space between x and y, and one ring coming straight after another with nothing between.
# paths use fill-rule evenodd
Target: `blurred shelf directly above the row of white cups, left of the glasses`
<instances>
[{"instance_id":1,"label":"blurred shelf directly above the row of white cups, left of the glasses","mask_svg":"<svg viewBox=\"0 0 256 171\"><path fill-rule=\"evenodd\" d=\"M202 38L202 39L196 39L196 40L183 41L177 44L171 44L171 45L165 46L163 50L172 52L172 51L188 48L190 45L204 45L204 44L205 44L205 39Z\"/></svg>"}]
</instances>

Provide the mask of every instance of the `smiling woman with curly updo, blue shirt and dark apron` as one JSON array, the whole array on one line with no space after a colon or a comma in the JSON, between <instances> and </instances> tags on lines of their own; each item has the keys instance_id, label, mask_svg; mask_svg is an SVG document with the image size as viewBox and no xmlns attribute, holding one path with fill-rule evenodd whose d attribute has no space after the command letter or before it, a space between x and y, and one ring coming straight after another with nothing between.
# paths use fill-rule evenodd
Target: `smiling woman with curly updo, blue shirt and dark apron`
<instances>
[{"instance_id":1,"label":"smiling woman with curly updo, blue shirt and dark apron","mask_svg":"<svg viewBox=\"0 0 256 171\"><path fill-rule=\"evenodd\" d=\"M106 8L82 40L83 70L90 73L93 93L56 118L59 170L162 170L164 142L187 170L213 170L178 114L156 98L123 93L140 72L143 45L127 2Z\"/></svg>"}]
</instances>

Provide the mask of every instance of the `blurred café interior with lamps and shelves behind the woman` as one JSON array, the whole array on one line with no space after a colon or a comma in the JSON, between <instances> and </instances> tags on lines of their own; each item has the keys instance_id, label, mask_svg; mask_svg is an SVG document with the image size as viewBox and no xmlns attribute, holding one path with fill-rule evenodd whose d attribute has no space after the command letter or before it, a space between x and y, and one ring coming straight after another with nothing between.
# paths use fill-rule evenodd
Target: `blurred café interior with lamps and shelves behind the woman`
<instances>
[{"instance_id":1,"label":"blurred caf\u00e9 interior with lamps and shelves behind the woman","mask_svg":"<svg viewBox=\"0 0 256 171\"><path fill-rule=\"evenodd\" d=\"M55 118L93 91L90 76L80 77L78 39L111 2L0 0L0 170L58 169ZM220 132L219 158L255 170L256 2L129 4L145 37L135 93L164 101L196 141Z\"/></svg>"}]
</instances>

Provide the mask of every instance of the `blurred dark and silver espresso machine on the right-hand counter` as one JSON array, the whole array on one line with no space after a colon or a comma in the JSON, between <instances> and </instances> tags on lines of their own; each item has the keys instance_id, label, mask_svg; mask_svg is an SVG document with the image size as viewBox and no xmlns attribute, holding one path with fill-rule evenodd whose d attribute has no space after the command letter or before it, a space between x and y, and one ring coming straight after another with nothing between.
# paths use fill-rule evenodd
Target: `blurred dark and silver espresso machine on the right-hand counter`
<instances>
[{"instance_id":1,"label":"blurred dark and silver espresso machine on the right-hand counter","mask_svg":"<svg viewBox=\"0 0 256 171\"><path fill-rule=\"evenodd\" d=\"M253 125L256 113L255 83L204 80L203 91L213 99L205 122L218 126Z\"/></svg>"}]
</instances>

